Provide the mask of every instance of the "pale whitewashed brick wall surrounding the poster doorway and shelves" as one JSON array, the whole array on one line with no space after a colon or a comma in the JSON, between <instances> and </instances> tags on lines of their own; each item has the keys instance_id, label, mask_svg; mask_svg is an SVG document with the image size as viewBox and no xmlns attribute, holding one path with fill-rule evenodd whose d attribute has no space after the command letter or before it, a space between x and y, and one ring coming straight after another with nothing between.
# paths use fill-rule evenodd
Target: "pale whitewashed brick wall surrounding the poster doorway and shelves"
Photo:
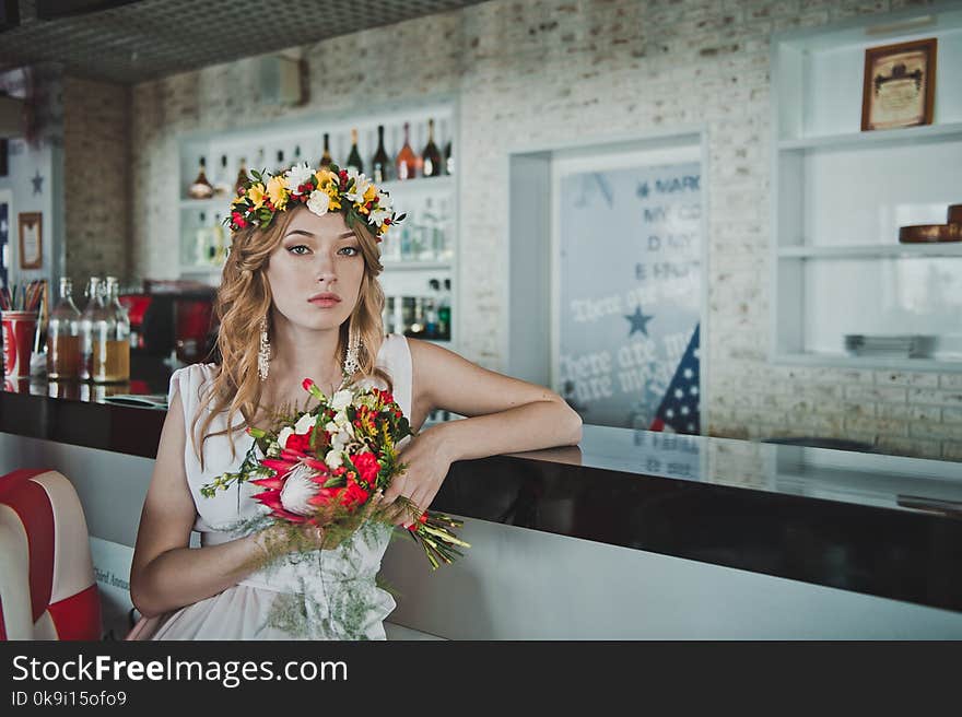
<instances>
[{"instance_id":1,"label":"pale whitewashed brick wall surrounding the poster doorway and shelves","mask_svg":"<svg viewBox=\"0 0 962 717\"><path fill-rule=\"evenodd\" d=\"M496 0L302 48L310 99L285 116L453 93L460 102L462 266L503 267L506 137L513 148L704 126L711 152L707 345L713 435L817 433L962 460L962 377L767 365L769 36L896 0ZM425 37L431 37L430 43ZM263 124L250 60L133 90L133 268L176 268L177 133ZM461 278L461 353L500 369L504 272Z\"/></svg>"}]
</instances>

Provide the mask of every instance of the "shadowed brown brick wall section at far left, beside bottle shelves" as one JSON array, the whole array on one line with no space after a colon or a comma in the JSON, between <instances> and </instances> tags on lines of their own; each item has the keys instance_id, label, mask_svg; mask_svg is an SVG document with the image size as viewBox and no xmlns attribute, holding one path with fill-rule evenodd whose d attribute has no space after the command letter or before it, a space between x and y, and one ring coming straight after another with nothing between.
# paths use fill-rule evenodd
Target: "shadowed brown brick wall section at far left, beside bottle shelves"
<instances>
[{"instance_id":1,"label":"shadowed brown brick wall section at far left, beside bottle shelves","mask_svg":"<svg viewBox=\"0 0 962 717\"><path fill-rule=\"evenodd\" d=\"M91 275L129 280L130 94L108 82L63 81L64 267L80 308Z\"/></svg>"}]
</instances>

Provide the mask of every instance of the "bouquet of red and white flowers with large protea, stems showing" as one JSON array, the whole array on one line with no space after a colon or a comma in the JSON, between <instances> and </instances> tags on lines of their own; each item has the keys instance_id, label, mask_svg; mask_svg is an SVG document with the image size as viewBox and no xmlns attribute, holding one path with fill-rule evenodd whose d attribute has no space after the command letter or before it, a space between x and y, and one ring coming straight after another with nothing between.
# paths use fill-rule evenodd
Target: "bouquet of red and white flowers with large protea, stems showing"
<instances>
[{"instance_id":1,"label":"bouquet of red and white flowers with large protea, stems showing","mask_svg":"<svg viewBox=\"0 0 962 717\"><path fill-rule=\"evenodd\" d=\"M351 385L328 398L309 378L302 386L319 404L282 412L269 430L249 427L255 442L241 469L218 477L201 493L212 497L250 481L265 489L254 499L270 508L271 522L293 528L292 539L303 536L296 527L304 524L320 527L326 546L340 544L365 520L394 522L395 510L375 501L407 468L398 460L397 447L412 431L394 396ZM403 497L398 502L410 512L409 534L432 568L454 562L462 554L458 548L470 548L453 532L462 521L435 512L422 514Z\"/></svg>"}]
</instances>

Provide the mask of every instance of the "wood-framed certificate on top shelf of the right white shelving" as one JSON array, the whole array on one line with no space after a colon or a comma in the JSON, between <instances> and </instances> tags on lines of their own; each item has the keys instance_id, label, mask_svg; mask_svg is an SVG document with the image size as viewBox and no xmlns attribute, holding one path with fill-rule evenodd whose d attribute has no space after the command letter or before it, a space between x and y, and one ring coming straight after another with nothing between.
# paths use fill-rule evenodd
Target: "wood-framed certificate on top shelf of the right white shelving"
<instances>
[{"instance_id":1,"label":"wood-framed certificate on top shelf of the right white shelving","mask_svg":"<svg viewBox=\"0 0 962 717\"><path fill-rule=\"evenodd\" d=\"M866 49L863 131L931 125L936 50L935 37Z\"/></svg>"}]
</instances>

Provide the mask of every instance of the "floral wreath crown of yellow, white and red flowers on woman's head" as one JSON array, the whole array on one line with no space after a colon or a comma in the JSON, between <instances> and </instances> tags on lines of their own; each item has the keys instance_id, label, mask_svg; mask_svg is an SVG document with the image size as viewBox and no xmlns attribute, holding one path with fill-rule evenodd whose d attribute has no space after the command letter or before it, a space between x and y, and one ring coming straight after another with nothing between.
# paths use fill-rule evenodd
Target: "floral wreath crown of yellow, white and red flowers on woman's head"
<instances>
[{"instance_id":1,"label":"floral wreath crown of yellow, white and red flowers on woman's head","mask_svg":"<svg viewBox=\"0 0 962 717\"><path fill-rule=\"evenodd\" d=\"M231 202L231 216L224 224L232 232L248 226L265 230L275 214L301 204L318 216L340 211L349 228L362 222L377 242L406 216L391 210L390 193L354 168L341 169L332 164L315 171L304 162L273 175L251 172L237 189L237 197Z\"/></svg>"}]
</instances>

